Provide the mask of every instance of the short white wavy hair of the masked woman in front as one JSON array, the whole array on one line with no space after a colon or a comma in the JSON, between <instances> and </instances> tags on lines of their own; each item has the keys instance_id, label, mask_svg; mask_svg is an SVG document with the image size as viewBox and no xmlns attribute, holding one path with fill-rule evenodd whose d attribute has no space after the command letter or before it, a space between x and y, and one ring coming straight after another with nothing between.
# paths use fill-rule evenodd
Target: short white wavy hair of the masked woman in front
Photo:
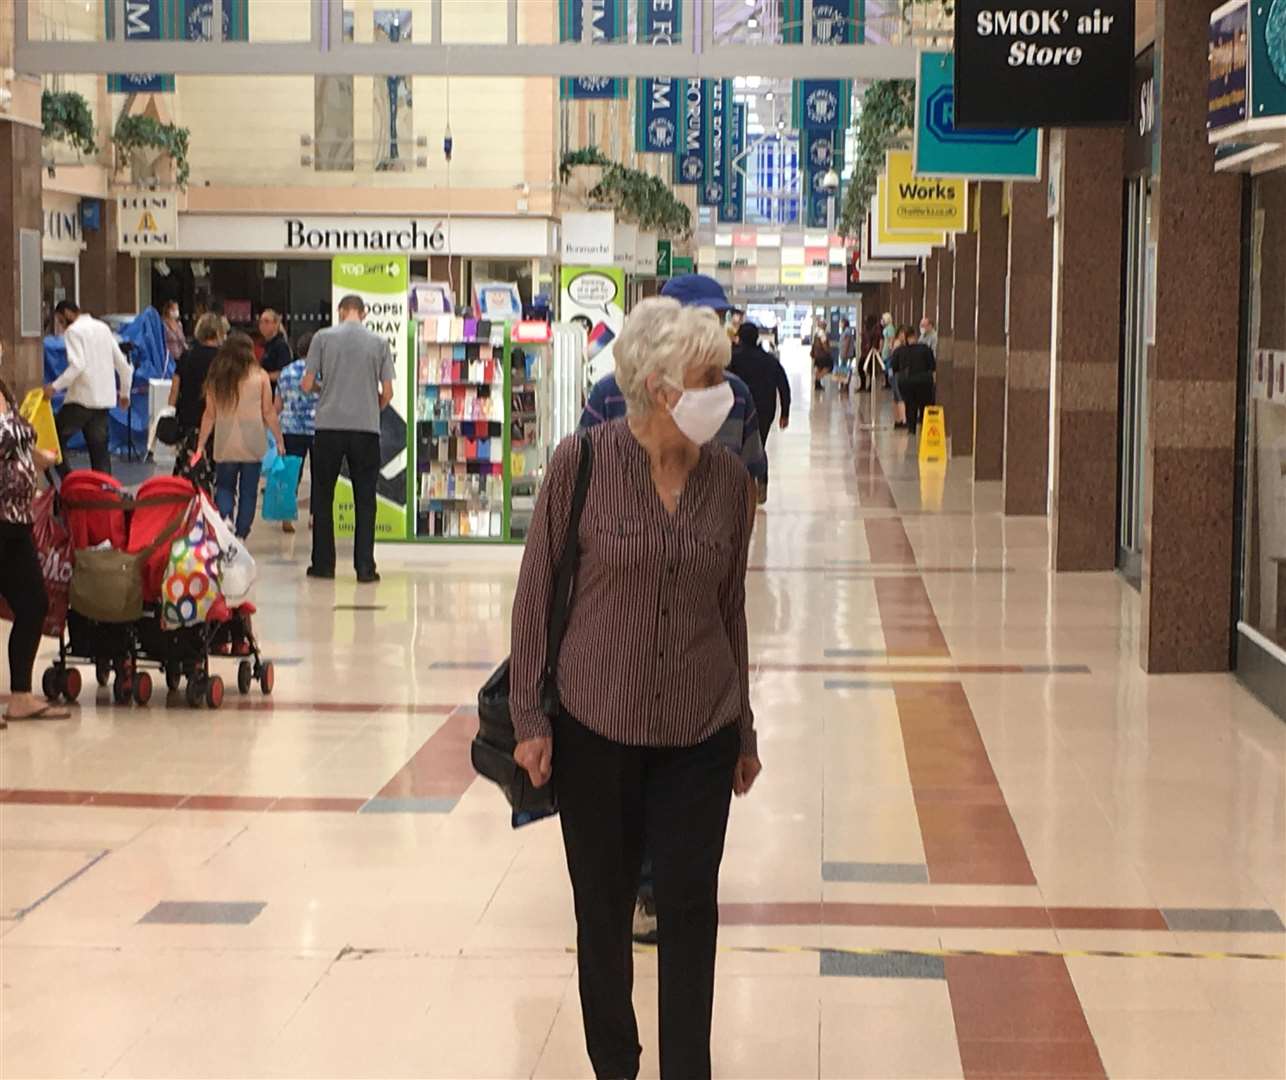
<instances>
[{"instance_id":1,"label":"short white wavy hair of the masked woman in front","mask_svg":"<svg viewBox=\"0 0 1286 1080\"><path fill-rule=\"evenodd\" d=\"M709 307L684 307L676 300L653 297L635 305L612 355L630 415L643 415L652 410L651 375L683 386L689 368L727 368L732 343Z\"/></svg>"}]
</instances>

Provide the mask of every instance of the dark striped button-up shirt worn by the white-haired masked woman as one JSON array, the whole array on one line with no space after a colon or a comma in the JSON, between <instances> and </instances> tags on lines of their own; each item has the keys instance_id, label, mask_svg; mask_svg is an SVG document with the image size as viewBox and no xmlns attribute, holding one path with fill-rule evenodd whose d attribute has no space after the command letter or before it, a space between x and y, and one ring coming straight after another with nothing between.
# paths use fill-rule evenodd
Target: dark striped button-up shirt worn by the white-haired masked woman
<instances>
[{"instance_id":1,"label":"dark striped button-up shirt worn by the white-haired masked woman","mask_svg":"<svg viewBox=\"0 0 1286 1080\"><path fill-rule=\"evenodd\" d=\"M563 708L628 746L694 746L737 724L755 750L746 644L746 558L755 489L724 447L702 447L674 514L626 420L592 429L575 597L558 658ZM540 711L545 621L576 483L576 437L540 487L513 599L509 710L520 739Z\"/></svg>"}]
</instances>

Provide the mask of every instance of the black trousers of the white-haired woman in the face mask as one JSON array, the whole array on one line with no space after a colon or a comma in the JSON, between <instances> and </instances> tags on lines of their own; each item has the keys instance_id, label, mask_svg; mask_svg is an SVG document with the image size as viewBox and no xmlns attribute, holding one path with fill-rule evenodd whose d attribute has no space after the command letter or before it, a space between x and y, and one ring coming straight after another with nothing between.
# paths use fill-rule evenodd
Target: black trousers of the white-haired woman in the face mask
<instances>
[{"instance_id":1,"label":"black trousers of the white-haired woman in the face mask","mask_svg":"<svg viewBox=\"0 0 1286 1080\"><path fill-rule=\"evenodd\" d=\"M631 747L570 716L554 724L554 783L576 903L585 1043L599 1077L639 1068L630 937L644 846L660 940L661 1076L710 1076L719 864L741 753L725 728L682 750Z\"/></svg>"}]
</instances>

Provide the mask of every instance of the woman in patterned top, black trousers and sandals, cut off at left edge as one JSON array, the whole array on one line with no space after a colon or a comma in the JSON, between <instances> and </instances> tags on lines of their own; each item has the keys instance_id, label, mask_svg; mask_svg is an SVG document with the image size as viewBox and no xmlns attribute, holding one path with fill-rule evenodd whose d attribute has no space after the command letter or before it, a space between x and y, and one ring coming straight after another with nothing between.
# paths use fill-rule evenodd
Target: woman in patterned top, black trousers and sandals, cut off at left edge
<instances>
[{"instance_id":1,"label":"woman in patterned top, black trousers and sandals, cut off at left edge","mask_svg":"<svg viewBox=\"0 0 1286 1080\"><path fill-rule=\"evenodd\" d=\"M45 575L31 532L31 504L37 476L53 463L54 455L36 446L36 432L18 415L18 399L0 379L0 597L13 612L9 703L0 728L9 726L9 720L66 720L71 715L31 692L31 670L49 611Z\"/></svg>"}]
</instances>

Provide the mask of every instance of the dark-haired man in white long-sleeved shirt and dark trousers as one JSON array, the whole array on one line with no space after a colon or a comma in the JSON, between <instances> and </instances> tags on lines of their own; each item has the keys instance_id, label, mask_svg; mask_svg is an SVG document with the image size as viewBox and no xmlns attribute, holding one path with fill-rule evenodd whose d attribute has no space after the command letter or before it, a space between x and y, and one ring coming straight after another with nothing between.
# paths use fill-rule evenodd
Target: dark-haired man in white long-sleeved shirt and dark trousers
<instances>
[{"instance_id":1,"label":"dark-haired man in white long-sleeved shirt and dark trousers","mask_svg":"<svg viewBox=\"0 0 1286 1080\"><path fill-rule=\"evenodd\" d=\"M45 397L67 391L63 408L58 410L58 441L67 446L76 432L84 431L90 468L111 473L112 455L107 449L108 410L116 404L122 409L129 408L134 369L107 323L89 314L82 315L80 307L69 300L60 301L54 315L67 328L63 336L67 345L67 370L45 386ZM121 378L120 386L117 375ZM64 476L69 471L66 454L58 469Z\"/></svg>"}]
</instances>

